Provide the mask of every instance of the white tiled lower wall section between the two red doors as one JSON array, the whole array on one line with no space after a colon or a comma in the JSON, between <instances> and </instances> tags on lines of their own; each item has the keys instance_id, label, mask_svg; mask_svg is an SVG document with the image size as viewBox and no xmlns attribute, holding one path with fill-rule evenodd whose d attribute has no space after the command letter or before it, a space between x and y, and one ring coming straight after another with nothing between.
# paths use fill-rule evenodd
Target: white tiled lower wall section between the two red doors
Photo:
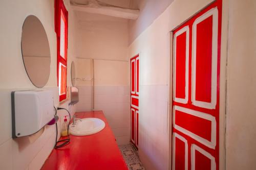
<instances>
[{"instance_id":1,"label":"white tiled lower wall section between the two red doors","mask_svg":"<svg viewBox=\"0 0 256 170\"><path fill-rule=\"evenodd\" d=\"M141 85L139 156L151 169L168 168L168 85Z\"/></svg>"}]
</instances>

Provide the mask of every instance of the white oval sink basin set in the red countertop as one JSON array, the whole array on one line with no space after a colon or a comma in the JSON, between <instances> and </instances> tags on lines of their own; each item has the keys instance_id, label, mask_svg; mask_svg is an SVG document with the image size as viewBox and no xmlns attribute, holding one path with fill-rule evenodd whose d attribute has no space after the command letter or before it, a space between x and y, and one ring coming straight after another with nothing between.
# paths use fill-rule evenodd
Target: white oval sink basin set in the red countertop
<instances>
[{"instance_id":1,"label":"white oval sink basin set in the red countertop","mask_svg":"<svg viewBox=\"0 0 256 170\"><path fill-rule=\"evenodd\" d=\"M70 126L70 133L75 136L91 135L98 133L104 127L105 123L99 118L77 118L75 125Z\"/></svg>"}]
</instances>

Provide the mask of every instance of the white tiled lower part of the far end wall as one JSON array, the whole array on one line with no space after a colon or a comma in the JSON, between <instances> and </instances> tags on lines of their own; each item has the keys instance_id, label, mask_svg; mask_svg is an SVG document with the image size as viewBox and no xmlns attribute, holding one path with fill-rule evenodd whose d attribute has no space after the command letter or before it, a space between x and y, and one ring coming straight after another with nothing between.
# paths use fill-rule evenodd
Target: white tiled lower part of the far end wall
<instances>
[{"instance_id":1,"label":"white tiled lower part of the far end wall","mask_svg":"<svg viewBox=\"0 0 256 170\"><path fill-rule=\"evenodd\" d=\"M77 86L79 103L77 112L91 111L92 86ZM129 86L95 86L94 110L102 110L118 144L130 141L130 94Z\"/></svg>"}]
</instances>

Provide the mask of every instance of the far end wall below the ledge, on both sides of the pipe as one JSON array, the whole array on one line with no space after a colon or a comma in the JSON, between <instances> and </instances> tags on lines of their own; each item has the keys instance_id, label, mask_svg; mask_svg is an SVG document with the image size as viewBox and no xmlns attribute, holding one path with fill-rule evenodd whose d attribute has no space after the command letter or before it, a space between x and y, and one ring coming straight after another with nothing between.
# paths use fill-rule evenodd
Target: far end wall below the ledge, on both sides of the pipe
<instances>
[{"instance_id":1,"label":"far end wall below the ledge, on both sides of the pipe","mask_svg":"<svg viewBox=\"0 0 256 170\"><path fill-rule=\"evenodd\" d=\"M77 59L77 111L103 110L118 144L130 141L129 62ZM94 70L94 96L92 87Z\"/></svg>"}]
</instances>

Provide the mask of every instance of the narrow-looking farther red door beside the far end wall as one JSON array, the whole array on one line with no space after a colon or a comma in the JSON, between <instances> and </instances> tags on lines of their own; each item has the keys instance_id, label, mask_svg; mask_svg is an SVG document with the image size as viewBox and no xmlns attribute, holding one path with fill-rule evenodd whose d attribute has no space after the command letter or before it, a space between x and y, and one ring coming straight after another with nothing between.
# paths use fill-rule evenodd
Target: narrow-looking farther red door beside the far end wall
<instances>
[{"instance_id":1,"label":"narrow-looking farther red door beside the far end wall","mask_svg":"<svg viewBox=\"0 0 256 170\"><path fill-rule=\"evenodd\" d=\"M131 142L139 145L139 55L131 58Z\"/></svg>"}]
</instances>

